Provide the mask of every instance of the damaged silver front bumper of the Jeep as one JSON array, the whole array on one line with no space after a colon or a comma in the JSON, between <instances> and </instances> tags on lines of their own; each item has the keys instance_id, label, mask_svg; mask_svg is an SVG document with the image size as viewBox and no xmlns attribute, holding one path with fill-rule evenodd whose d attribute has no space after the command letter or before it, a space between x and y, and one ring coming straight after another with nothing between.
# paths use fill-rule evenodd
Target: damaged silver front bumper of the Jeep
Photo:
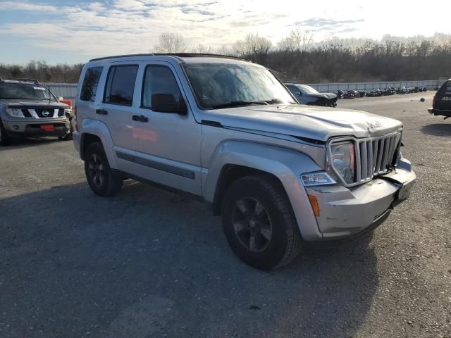
<instances>
[{"instance_id":1,"label":"damaged silver front bumper of the Jeep","mask_svg":"<svg viewBox=\"0 0 451 338\"><path fill-rule=\"evenodd\" d=\"M307 188L316 196L320 215L316 218L323 240L353 237L379 225L394 206L409 197L416 180L409 161L402 158L396 170L358 187L340 185Z\"/></svg>"}]
</instances>

